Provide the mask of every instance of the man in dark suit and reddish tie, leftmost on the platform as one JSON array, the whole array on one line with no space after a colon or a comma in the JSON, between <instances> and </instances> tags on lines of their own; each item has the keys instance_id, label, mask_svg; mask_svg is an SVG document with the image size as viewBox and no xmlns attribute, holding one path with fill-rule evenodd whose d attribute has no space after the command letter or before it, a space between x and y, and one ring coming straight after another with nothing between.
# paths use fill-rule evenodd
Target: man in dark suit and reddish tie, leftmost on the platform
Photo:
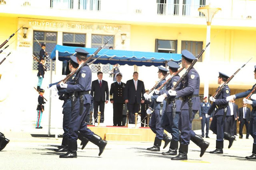
<instances>
[{"instance_id":1,"label":"man in dark suit and reddish tie, leftmost on the platform","mask_svg":"<svg viewBox=\"0 0 256 170\"><path fill-rule=\"evenodd\" d=\"M104 122L104 107L105 103L108 103L108 82L102 80L103 73L102 72L97 72L98 80L94 80L92 82L92 90L91 90L91 95L93 96L94 100L94 120L95 122L98 122L96 120L96 117L98 115L98 107L100 106L100 122Z\"/></svg>"}]
</instances>

